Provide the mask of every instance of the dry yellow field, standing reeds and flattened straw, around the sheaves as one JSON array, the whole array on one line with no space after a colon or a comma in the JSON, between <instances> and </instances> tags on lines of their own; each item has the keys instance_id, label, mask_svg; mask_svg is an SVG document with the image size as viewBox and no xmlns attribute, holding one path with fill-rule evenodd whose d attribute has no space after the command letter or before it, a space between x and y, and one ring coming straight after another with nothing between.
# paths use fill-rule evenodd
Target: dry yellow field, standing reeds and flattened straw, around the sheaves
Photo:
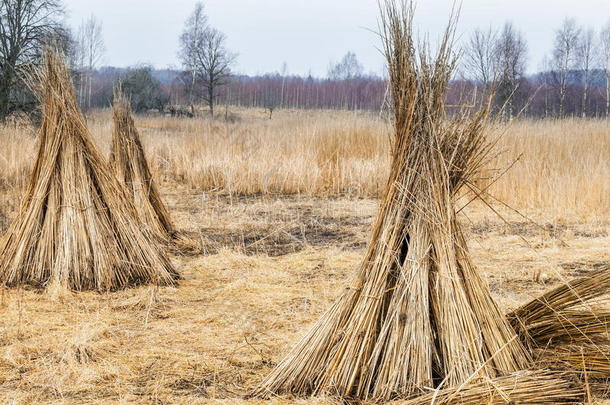
<instances>
[{"instance_id":1,"label":"dry yellow field, standing reeds and flattened straw, around the sheaves","mask_svg":"<svg viewBox=\"0 0 610 405\"><path fill-rule=\"evenodd\" d=\"M387 177L388 128L364 113L265 116L138 118L171 214L204 253L172 258L184 276L178 287L59 297L1 290L0 403L335 403L247 395L363 257ZM107 153L109 112L89 120ZM512 166L489 188L505 203L489 199L501 217L477 202L461 220L508 310L610 263L610 123L517 121L495 134L487 182ZM4 231L35 130L5 126L0 144Z\"/></svg>"}]
</instances>

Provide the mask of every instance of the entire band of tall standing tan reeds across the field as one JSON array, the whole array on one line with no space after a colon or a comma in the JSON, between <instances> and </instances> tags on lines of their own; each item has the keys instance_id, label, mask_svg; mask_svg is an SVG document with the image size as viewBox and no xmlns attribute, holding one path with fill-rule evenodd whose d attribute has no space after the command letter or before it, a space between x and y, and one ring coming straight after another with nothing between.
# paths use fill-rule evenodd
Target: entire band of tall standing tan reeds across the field
<instances>
[{"instance_id":1,"label":"entire band of tall standing tan reeds across the field","mask_svg":"<svg viewBox=\"0 0 610 405\"><path fill-rule=\"evenodd\" d=\"M153 174L166 183L235 194L371 197L385 184L389 131L375 114L278 111L273 120L262 110L235 114L242 119L233 123L136 117ZM110 113L98 111L88 119L96 143L109 153ZM28 126L0 127L0 188L23 187L33 132ZM492 186L493 195L558 218L607 218L609 122L524 120L494 132L502 135L503 153L492 167L512 167Z\"/></svg>"}]
</instances>

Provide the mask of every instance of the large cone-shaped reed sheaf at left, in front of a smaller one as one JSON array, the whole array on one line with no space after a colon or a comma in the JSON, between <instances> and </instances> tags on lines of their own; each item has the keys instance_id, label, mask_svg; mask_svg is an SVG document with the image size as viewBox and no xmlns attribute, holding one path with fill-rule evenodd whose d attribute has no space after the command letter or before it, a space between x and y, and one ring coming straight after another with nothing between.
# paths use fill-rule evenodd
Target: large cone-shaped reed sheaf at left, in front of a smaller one
<instances>
[{"instance_id":1,"label":"large cone-shaped reed sheaf at left, in front of a smaller one","mask_svg":"<svg viewBox=\"0 0 610 405\"><path fill-rule=\"evenodd\" d=\"M0 244L0 283L111 290L178 274L96 150L58 51L39 74L43 120L23 206Z\"/></svg>"}]
</instances>

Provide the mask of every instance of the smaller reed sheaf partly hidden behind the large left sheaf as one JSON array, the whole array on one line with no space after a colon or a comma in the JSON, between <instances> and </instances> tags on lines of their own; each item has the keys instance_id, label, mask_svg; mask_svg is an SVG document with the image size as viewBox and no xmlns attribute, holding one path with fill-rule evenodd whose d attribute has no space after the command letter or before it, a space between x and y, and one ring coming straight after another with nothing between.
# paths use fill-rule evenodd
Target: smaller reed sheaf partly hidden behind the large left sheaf
<instances>
[{"instance_id":1,"label":"smaller reed sheaf partly hidden behind the large left sheaf","mask_svg":"<svg viewBox=\"0 0 610 405\"><path fill-rule=\"evenodd\" d=\"M118 86L114 91L110 166L127 188L140 221L175 253L197 253L193 241L176 231L152 177L131 104Z\"/></svg>"}]
</instances>

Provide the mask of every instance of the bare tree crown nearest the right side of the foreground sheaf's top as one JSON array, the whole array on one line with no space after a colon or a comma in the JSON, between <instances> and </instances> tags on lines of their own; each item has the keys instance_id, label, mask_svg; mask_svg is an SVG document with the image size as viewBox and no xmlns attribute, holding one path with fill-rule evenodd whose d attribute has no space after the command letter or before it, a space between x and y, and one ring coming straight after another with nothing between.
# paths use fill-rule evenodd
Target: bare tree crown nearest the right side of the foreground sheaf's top
<instances>
[{"instance_id":1,"label":"bare tree crown nearest the right side of the foreground sheaf's top","mask_svg":"<svg viewBox=\"0 0 610 405\"><path fill-rule=\"evenodd\" d=\"M498 34L491 27L476 29L464 48L464 68L467 74L483 85L484 90L495 82L498 74Z\"/></svg>"}]
</instances>

